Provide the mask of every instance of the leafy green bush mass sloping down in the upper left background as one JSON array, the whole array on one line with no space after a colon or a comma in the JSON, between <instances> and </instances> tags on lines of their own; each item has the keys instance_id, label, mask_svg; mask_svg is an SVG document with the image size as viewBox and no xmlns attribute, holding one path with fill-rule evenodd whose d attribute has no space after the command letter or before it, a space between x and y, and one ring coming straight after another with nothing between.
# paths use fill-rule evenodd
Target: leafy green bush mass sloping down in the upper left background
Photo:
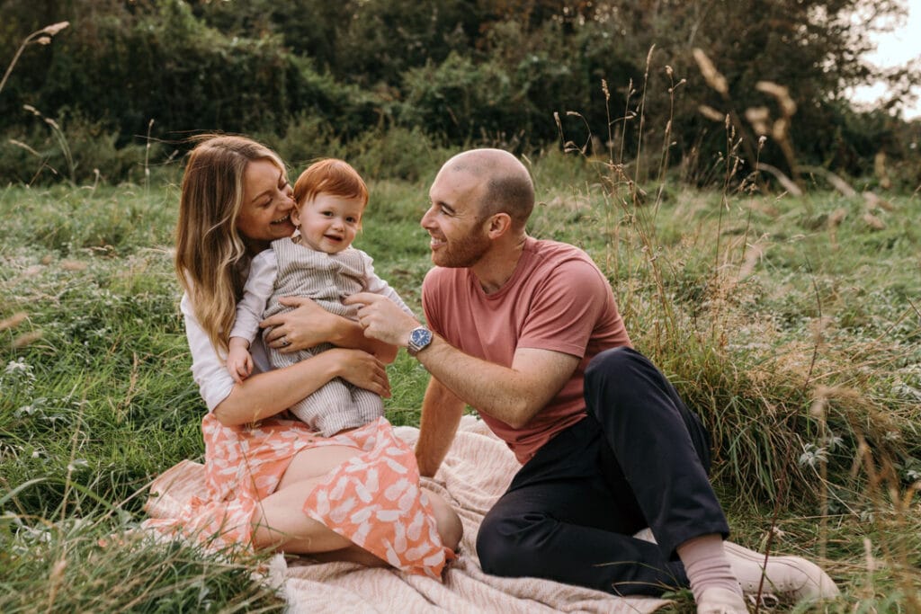
<instances>
[{"instance_id":1,"label":"leafy green bush mass sloping down in the upper left background","mask_svg":"<svg viewBox=\"0 0 921 614\"><path fill-rule=\"evenodd\" d=\"M121 135L120 147L148 133L175 141L208 130L276 131L298 113L335 119L348 134L372 117L366 96L317 73L280 37L226 36L181 0L78 13L71 30L46 67L11 81L0 99L7 127L23 121L24 103L49 117L71 109L96 118L94 129ZM126 178L115 170L113 179Z\"/></svg>"}]
</instances>

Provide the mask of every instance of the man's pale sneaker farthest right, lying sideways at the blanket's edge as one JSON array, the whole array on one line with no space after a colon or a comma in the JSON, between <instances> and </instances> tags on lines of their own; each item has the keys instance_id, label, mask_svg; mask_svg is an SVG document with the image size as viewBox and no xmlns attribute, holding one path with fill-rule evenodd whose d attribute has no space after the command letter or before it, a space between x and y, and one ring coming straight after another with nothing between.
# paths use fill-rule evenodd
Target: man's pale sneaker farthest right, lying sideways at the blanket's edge
<instances>
[{"instance_id":1,"label":"man's pale sneaker farthest right, lying sideways at the blanket's edge","mask_svg":"<svg viewBox=\"0 0 921 614\"><path fill-rule=\"evenodd\" d=\"M729 567L735 573L742 592L756 595L764 574L763 592L781 601L816 601L837 597L840 592L828 573L814 562L798 556L771 556L764 572L764 554L732 543L723 542Z\"/></svg>"}]
</instances>

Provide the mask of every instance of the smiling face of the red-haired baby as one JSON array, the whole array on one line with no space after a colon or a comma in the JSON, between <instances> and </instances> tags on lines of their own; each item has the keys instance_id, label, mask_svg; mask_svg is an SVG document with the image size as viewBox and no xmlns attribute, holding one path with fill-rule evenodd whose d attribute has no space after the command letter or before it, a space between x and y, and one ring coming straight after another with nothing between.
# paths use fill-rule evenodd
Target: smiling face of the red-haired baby
<instances>
[{"instance_id":1,"label":"smiling face of the red-haired baby","mask_svg":"<svg viewBox=\"0 0 921 614\"><path fill-rule=\"evenodd\" d=\"M361 201L320 193L312 201L301 203L291 219L300 228L301 240L317 251L335 254L352 245L361 214Z\"/></svg>"}]
</instances>

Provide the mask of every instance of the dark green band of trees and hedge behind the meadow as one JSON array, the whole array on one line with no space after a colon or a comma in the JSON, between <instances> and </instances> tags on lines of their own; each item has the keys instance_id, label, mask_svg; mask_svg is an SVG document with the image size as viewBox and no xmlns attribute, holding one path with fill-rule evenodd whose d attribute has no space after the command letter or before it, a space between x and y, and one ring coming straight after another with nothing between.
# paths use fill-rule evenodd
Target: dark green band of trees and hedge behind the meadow
<instances>
[{"instance_id":1,"label":"dark green band of trees and hedge behind the meadow","mask_svg":"<svg viewBox=\"0 0 921 614\"><path fill-rule=\"evenodd\" d=\"M127 160L148 134L167 144L145 150L157 163L175 144L184 149L190 132L285 140L289 129L309 128L322 137L309 148L329 145L330 155L368 133L401 128L438 144L525 153L567 143L594 155L614 147L642 163L644 179L658 166L647 156L668 151L668 166L709 184L718 180L713 165L726 150L728 114L747 172L757 159L793 180L816 166L869 177L881 151L888 185L911 191L919 182L911 163L917 128L893 114L900 98L864 112L844 96L845 87L880 76L860 60L866 24L852 13L892 15L900 4L68 0L52 9L6 0L7 57L43 24L72 25L51 44L30 44L0 93L0 180L73 181L99 168L96 160L114 162L99 168L104 178L135 180ZM702 74L695 49L725 88ZM908 83L915 73L905 67L890 76ZM786 87L795 110L764 83ZM48 141L41 126L29 128L26 104L59 122L72 145L81 131L109 134L99 138L105 155L75 147L77 168L65 172L64 145ZM762 119L746 119L754 116ZM760 133L769 138L757 147ZM134 151L124 156L111 152L129 145ZM302 151L307 145L290 145L298 160L312 156Z\"/></svg>"}]
</instances>

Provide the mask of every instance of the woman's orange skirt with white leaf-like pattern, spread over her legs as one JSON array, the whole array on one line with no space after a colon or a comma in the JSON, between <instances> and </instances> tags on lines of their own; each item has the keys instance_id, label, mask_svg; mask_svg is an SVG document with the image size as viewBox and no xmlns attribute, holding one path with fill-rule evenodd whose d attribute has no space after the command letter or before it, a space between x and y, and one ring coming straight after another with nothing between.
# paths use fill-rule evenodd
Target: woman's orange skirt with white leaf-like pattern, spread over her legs
<instances>
[{"instance_id":1,"label":"woman's orange skirt with white leaf-like pattern, spread over her legs","mask_svg":"<svg viewBox=\"0 0 921 614\"><path fill-rule=\"evenodd\" d=\"M309 493L304 514L406 573L440 579L454 558L419 488L413 450L383 418L321 437L297 420L228 427L208 413L202 433L205 492L192 496L180 517L150 518L144 527L216 549L250 547L253 513L275 491L291 459L310 447L349 446L360 453L324 476Z\"/></svg>"}]
</instances>

